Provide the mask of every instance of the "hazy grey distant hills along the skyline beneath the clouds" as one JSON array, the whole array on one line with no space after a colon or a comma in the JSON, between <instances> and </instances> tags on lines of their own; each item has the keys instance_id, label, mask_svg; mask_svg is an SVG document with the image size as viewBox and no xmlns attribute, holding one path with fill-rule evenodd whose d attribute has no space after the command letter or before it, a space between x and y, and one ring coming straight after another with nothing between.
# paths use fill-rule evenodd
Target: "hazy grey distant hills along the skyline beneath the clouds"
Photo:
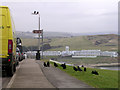
<instances>
[{"instance_id":1,"label":"hazy grey distant hills along the skyline beneath the clouds","mask_svg":"<svg viewBox=\"0 0 120 90\"><path fill-rule=\"evenodd\" d=\"M72 36L87 36L87 35L104 35L104 34L117 34L115 32L91 32L91 33L66 33L66 32L44 32L44 38L61 38L61 37L72 37ZM16 31L16 36L20 38L38 38L38 34L32 32Z\"/></svg>"}]
</instances>

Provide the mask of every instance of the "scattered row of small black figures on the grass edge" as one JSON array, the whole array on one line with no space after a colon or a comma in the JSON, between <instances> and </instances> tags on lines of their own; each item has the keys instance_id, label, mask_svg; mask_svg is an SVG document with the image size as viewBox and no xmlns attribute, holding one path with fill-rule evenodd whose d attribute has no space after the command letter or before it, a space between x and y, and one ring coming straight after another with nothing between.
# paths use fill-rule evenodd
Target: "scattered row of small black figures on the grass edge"
<instances>
[{"instance_id":1,"label":"scattered row of small black figures on the grass edge","mask_svg":"<svg viewBox=\"0 0 120 90\"><path fill-rule=\"evenodd\" d=\"M50 67L50 62L49 61L47 61L47 62L44 62L43 63L43 65L44 65L44 67ZM63 69L66 69L66 64L64 63L64 64L61 64L60 65ZM58 67L58 64L57 63L55 63L54 62L54 67ZM84 72L86 72L87 71L87 68L86 67L84 67L83 65L81 66L81 67L83 67L83 70L79 67L79 66L73 66L73 70L74 71L84 71ZM95 74L95 75L99 75L99 73L98 73L98 71L92 71L91 72L92 74Z\"/></svg>"}]
</instances>

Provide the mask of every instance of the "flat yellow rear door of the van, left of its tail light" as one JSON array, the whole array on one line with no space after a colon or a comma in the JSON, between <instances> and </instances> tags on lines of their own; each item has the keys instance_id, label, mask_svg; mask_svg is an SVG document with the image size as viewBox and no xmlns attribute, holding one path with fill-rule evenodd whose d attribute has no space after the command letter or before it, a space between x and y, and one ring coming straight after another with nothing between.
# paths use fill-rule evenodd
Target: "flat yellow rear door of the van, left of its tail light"
<instances>
[{"instance_id":1,"label":"flat yellow rear door of the van, left of its tail light","mask_svg":"<svg viewBox=\"0 0 120 90\"><path fill-rule=\"evenodd\" d=\"M6 8L0 8L1 13L0 13L0 57L7 57L7 43L8 43L8 30L7 30L7 9Z\"/></svg>"}]
</instances>

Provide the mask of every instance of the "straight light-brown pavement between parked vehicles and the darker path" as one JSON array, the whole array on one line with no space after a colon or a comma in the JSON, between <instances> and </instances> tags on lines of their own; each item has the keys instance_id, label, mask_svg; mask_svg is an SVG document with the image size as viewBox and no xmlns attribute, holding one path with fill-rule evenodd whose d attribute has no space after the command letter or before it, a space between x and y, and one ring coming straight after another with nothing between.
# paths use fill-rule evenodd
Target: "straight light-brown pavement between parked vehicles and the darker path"
<instances>
[{"instance_id":1,"label":"straight light-brown pavement between parked vehicles and the darker path","mask_svg":"<svg viewBox=\"0 0 120 90\"><path fill-rule=\"evenodd\" d=\"M7 88L54 88L46 79L34 59L25 59L20 64Z\"/></svg>"}]
</instances>

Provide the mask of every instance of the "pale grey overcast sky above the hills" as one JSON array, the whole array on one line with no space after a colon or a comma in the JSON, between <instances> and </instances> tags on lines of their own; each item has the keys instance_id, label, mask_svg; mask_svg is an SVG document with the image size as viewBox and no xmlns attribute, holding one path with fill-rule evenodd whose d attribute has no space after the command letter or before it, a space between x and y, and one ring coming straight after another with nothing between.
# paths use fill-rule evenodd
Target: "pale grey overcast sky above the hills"
<instances>
[{"instance_id":1,"label":"pale grey overcast sky above the hills","mask_svg":"<svg viewBox=\"0 0 120 90\"><path fill-rule=\"evenodd\" d=\"M4 0L8 6L17 31L38 29L40 12L41 29L56 32L117 32L118 0L65 0L65 1L21 1Z\"/></svg>"}]
</instances>

